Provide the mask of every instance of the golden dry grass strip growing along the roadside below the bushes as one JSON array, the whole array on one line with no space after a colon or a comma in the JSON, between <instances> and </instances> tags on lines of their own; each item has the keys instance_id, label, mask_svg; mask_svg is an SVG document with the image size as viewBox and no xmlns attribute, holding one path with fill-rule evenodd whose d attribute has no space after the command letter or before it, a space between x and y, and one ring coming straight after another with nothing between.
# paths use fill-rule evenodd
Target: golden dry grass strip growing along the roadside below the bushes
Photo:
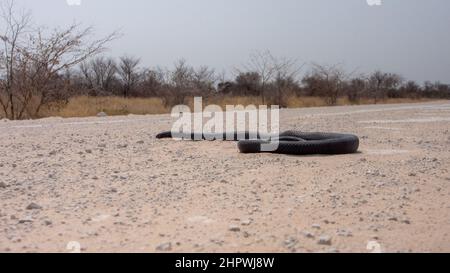
<instances>
[{"instance_id":1,"label":"golden dry grass strip growing along the roadside below the bushes","mask_svg":"<svg viewBox=\"0 0 450 273\"><path fill-rule=\"evenodd\" d=\"M326 100L321 97L296 97L292 96L287 100L288 108L319 107L327 106ZM412 103L427 101L427 99L387 99L379 103ZM260 105L259 97L212 97L204 98L205 105L216 104L225 109L226 105ZM362 99L359 103L351 103L347 98L340 98L338 105L351 104L373 104L371 99ZM189 100L188 105L192 107L193 100ZM41 117L59 116L59 117L89 117L95 116L99 112L105 112L108 115L146 115L146 114L164 114L170 113L170 109L165 107L160 98L121 98L121 97L74 97L66 105L53 105L45 107L41 111Z\"/></svg>"}]
</instances>

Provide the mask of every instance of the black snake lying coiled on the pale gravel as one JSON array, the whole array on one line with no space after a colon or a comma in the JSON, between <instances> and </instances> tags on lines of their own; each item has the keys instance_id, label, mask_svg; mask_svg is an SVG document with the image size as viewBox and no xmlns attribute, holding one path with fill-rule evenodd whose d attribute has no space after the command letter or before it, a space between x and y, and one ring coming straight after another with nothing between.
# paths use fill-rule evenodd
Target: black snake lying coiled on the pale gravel
<instances>
[{"instance_id":1,"label":"black snake lying coiled on the pale gravel","mask_svg":"<svg viewBox=\"0 0 450 273\"><path fill-rule=\"evenodd\" d=\"M359 148L359 138L350 134L337 134L337 133L304 133L299 131L286 131L279 134L276 138L271 140L265 140L268 138L262 137L260 134L256 134L256 139L251 139L252 134L245 133L224 133L222 138L218 138L214 135L202 134L199 139L203 140L215 140L224 139L230 141L238 141L238 148L241 153L261 153L271 152L277 154L290 154L290 155L312 155L312 154L351 154L356 153ZM172 132L163 132L158 134L156 138L183 138L183 139L198 139L195 134L177 134L173 136ZM263 149L264 144L275 143L276 148L267 151Z\"/></svg>"}]
</instances>

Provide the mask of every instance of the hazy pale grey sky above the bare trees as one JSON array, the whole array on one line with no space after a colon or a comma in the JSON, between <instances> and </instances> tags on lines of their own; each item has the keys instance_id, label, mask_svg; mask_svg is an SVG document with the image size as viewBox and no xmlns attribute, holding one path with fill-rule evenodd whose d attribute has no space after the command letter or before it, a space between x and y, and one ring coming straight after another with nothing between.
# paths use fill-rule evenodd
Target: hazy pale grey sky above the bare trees
<instances>
[{"instance_id":1,"label":"hazy pale grey sky above the bare trees","mask_svg":"<svg viewBox=\"0 0 450 273\"><path fill-rule=\"evenodd\" d=\"M3 1L3 0L1 0ZM47 26L74 21L124 36L108 54L146 66L189 63L218 71L255 50L301 62L382 69L450 83L450 1L384 0L18 0Z\"/></svg>"}]
</instances>

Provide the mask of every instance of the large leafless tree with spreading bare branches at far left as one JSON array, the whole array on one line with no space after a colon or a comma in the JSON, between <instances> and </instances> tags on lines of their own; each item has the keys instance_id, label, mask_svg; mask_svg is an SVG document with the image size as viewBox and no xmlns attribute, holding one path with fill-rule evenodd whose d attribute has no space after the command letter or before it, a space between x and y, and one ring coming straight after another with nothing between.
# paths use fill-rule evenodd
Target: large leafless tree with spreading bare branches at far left
<instances>
[{"instance_id":1,"label":"large leafless tree with spreading bare branches at far left","mask_svg":"<svg viewBox=\"0 0 450 273\"><path fill-rule=\"evenodd\" d=\"M52 81L64 71L102 52L105 45L117 37L117 33L112 33L91 40L93 29L81 28L77 24L53 31L33 27L33 32L28 32L30 15L16 13L12 1L2 7L1 19L6 25L4 34L0 36L4 44L3 67L6 68L1 104L5 115L11 119L21 119L25 113L38 115L42 105L53 97Z\"/></svg>"}]
</instances>

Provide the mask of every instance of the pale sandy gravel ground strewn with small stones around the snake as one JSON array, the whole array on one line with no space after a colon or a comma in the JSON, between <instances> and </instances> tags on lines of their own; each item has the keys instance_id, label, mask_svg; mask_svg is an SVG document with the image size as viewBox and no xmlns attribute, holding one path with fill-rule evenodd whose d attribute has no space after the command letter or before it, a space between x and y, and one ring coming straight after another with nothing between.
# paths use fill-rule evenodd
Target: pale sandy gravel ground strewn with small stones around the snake
<instances>
[{"instance_id":1,"label":"pale sandy gravel ground strewn with small stones around the snake","mask_svg":"<svg viewBox=\"0 0 450 273\"><path fill-rule=\"evenodd\" d=\"M159 141L164 115L0 121L0 252L450 251L450 102L281 120L361 152Z\"/></svg>"}]
</instances>

